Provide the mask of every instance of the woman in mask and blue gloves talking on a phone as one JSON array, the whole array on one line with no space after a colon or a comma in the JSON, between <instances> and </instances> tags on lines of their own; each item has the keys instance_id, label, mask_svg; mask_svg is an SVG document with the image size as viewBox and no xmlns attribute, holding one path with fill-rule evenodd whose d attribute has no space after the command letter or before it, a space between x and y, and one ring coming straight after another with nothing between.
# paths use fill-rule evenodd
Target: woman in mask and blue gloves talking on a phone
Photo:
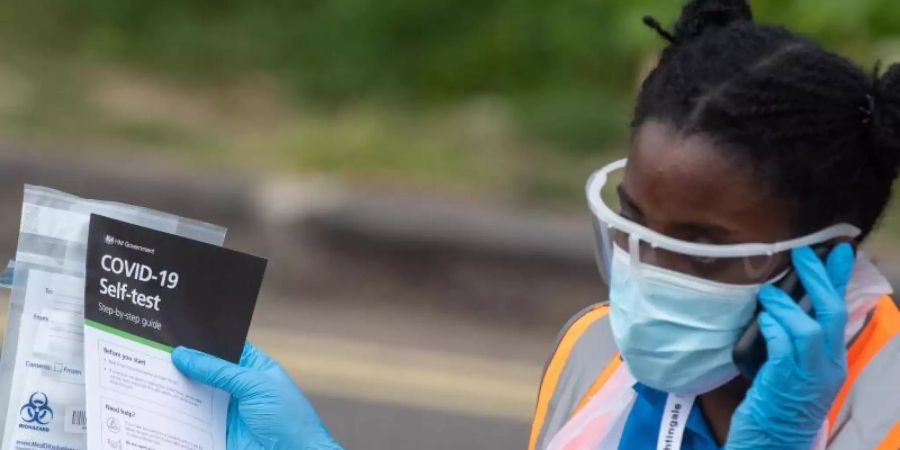
<instances>
[{"instance_id":1,"label":"woman in mask and blue gloves talking on a phone","mask_svg":"<svg viewBox=\"0 0 900 450\"><path fill-rule=\"evenodd\" d=\"M529 447L900 448L900 314L854 255L900 166L900 65L870 76L743 0L647 23L669 46L627 163L588 185L610 303L564 328ZM776 287L793 276L813 315ZM767 356L740 375L755 324ZM252 347L173 359L234 396L229 448L340 448Z\"/></svg>"}]
</instances>

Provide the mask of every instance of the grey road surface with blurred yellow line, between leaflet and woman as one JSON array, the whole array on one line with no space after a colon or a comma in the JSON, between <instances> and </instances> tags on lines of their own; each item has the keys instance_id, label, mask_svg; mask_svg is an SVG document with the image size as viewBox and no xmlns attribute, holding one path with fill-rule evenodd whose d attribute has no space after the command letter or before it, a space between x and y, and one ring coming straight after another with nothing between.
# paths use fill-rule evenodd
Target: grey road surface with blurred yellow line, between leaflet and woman
<instances>
[{"instance_id":1,"label":"grey road surface with blurred yellow line, between leaflet and woman","mask_svg":"<svg viewBox=\"0 0 900 450\"><path fill-rule=\"evenodd\" d=\"M250 339L347 449L522 449L553 337L391 305L263 299ZM290 420L290 418L287 418Z\"/></svg>"}]
</instances>

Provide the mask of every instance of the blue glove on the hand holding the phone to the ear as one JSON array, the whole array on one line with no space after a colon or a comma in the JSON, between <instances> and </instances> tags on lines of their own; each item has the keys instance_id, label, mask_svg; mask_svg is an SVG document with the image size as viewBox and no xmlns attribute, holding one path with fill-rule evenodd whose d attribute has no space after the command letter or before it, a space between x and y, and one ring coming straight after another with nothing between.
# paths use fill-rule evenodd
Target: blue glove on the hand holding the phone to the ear
<instances>
[{"instance_id":1,"label":"blue glove on the hand holding the phone to the ear","mask_svg":"<svg viewBox=\"0 0 900 450\"><path fill-rule=\"evenodd\" d=\"M791 258L815 318L774 286L759 291L769 359L731 418L728 450L809 450L846 377L844 290L853 249L837 245L825 265L809 247L795 249Z\"/></svg>"}]
</instances>

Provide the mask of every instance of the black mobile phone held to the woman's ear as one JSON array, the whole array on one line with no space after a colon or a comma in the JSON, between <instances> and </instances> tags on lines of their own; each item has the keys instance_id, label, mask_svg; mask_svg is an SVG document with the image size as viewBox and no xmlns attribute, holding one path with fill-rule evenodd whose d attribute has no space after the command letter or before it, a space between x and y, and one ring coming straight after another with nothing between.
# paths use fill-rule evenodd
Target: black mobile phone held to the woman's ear
<instances>
[{"instance_id":1,"label":"black mobile phone held to the woman's ear","mask_svg":"<svg viewBox=\"0 0 900 450\"><path fill-rule=\"evenodd\" d=\"M828 252L831 251L831 246L820 245L817 246L814 251L819 259L824 261L825 258L828 257ZM800 309L802 309L803 312L811 316L814 315L812 300L806 295L803 283L800 282L800 278L797 276L797 272L794 270L793 266L791 266L788 273L785 274L784 278L782 278L776 286L784 292L787 292L788 295L797 302L797 305L800 306ZM763 363L766 362L766 359L768 358L766 339L759 331L758 319L761 310L760 307L757 307L756 314L753 315L753 320L750 322L750 325L744 329L741 337L738 338L737 343L734 344L734 348L731 350L731 357L734 360L734 364L737 366L738 371L741 372L741 375L751 381L756 377L756 372L759 372L759 368L762 367Z\"/></svg>"}]
</instances>

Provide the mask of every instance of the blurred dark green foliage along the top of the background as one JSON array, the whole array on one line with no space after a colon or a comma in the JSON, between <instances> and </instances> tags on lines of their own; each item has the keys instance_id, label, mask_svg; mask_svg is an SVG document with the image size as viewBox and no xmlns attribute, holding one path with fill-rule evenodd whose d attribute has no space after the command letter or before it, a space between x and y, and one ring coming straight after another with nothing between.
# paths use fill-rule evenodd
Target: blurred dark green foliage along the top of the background
<instances>
[{"instance_id":1,"label":"blurred dark green foliage along the top of the background","mask_svg":"<svg viewBox=\"0 0 900 450\"><path fill-rule=\"evenodd\" d=\"M900 54L897 0L758 0L864 64ZM272 74L322 108L440 107L479 96L573 151L621 143L639 68L673 0L11 0L4 47L92 58L206 82Z\"/></svg>"}]
</instances>

